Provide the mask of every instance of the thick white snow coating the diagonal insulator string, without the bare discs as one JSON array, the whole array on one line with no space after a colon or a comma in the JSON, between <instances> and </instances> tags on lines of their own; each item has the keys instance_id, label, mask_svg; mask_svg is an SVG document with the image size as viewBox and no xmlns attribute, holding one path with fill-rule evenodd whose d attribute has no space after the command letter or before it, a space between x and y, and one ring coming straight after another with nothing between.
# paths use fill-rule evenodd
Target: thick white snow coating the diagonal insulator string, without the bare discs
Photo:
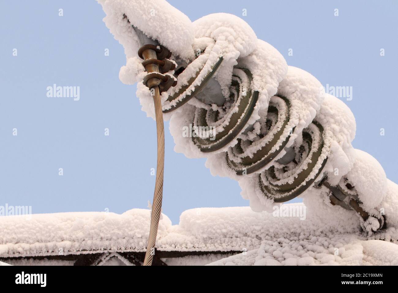
<instances>
[{"instance_id":1,"label":"thick white snow coating the diagonal insulator string, without the bare discs","mask_svg":"<svg viewBox=\"0 0 398 293\"><path fill-rule=\"evenodd\" d=\"M263 171L275 166L275 174L280 178L274 183L277 185L292 183L300 171L308 168L308 164L313 160L312 153L321 143L323 143L322 153L306 180L300 183L302 186L306 185L309 179L315 179L316 176L320 179L326 175L328 183L332 186L339 183L341 185L342 180L347 179L351 185L355 185L355 190L347 190L347 192L356 192L363 202L362 207L367 212L376 214L376 208L383 208L379 205L384 197L387 199L384 201L387 208L389 208L389 201L395 204L394 196L386 195L387 179L380 164L370 155L352 147L356 124L351 110L338 98L325 94L320 82L310 73L296 67L288 67L283 56L265 41L257 39L252 28L244 20L232 14L216 13L191 22L182 12L163 0L99 0L99 2L106 14L105 24L125 48L127 63L125 67L122 67L119 78L127 84L138 82L137 96L139 96L142 109L148 116L154 117L153 99L148 88L140 82L146 73L137 57L139 42L131 24L144 31L148 37L157 39L161 45L168 47L173 53L174 61L183 59L189 63L178 76L177 86L162 93L164 110L170 109L176 105L176 102L191 94L222 57L220 67L213 78L219 83L225 98L228 98L230 93L235 94L234 101L226 102L220 107L216 104L205 104L193 97L187 104L168 113L164 118L170 119L170 132L175 142L174 150L189 158L207 157L206 167L210 169L212 175L227 176L238 180L242 188L241 194L250 201L253 210L269 210L273 205L273 200L265 197L259 190L256 173L261 173L263 183L268 185L269 181ZM127 15L131 24L123 18L123 14ZM249 80L239 68L249 69L253 75L252 80ZM176 100L167 101L168 96L179 92L196 75L197 78L187 90L179 94ZM236 90L230 87L231 82L236 80L236 77L232 75L240 77L241 91L251 88L259 92L258 102L249 121L234 140L217 151L202 152L191 137L183 136L183 128L195 124L195 117L201 108L219 110L220 117L217 121L207 119L209 126L214 128L207 133L215 135L230 124L230 119L238 111L241 102L241 96L237 96ZM289 110L280 98L278 100L274 96L275 94L287 98ZM272 116L268 116L267 113L270 103L279 108L278 121L269 135L266 133L267 135L259 139L259 135L266 132L263 127L266 119ZM297 150L301 145L304 129L314 134L311 153L309 152L297 166L289 167L291 169L286 172L282 169L284 165L277 162L286 153L282 150L273 161L257 170L256 173L246 176L236 175L226 162L226 153L228 152L228 157L236 163L239 163L243 157L253 157L256 151L272 140L287 116L289 122L269 153L279 149L288 137L286 147L293 146ZM311 122L322 126L323 140L320 139L320 135L316 136L320 132ZM238 138L245 140L242 147L244 152L233 155L232 147L237 144ZM326 158L326 165L319 173ZM328 205L324 188L317 192L323 194L320 197L322 199L320 205ZM313 194L311 187L306 193ZM306 197L306 194L302 197ZM395 215L389 216L394 222ZM369 227L377 226L377 221L370 218L369 222L362 224L369 230Z\"/></svg>"}]
</instances>

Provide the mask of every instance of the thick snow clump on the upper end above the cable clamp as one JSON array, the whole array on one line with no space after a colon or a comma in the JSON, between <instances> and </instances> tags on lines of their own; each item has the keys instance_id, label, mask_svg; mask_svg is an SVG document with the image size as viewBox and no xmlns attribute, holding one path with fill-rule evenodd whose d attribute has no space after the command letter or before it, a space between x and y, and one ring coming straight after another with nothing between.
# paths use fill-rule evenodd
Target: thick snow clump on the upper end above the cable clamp
<instances>
[{"instance_id":1,"label":"thick snow clump on the upper end above the cable clamp","mask_svg":"<svg viewBox=\"0 0 398 293\"><path fill-rule=\"evenodd\" d=\"M193 24L185 14L165 0L98 0L98 2L106 14L103 22L115 39L123 45L125 51L126 65L121 67L119 79L128 85L138 83L137 96L142 110L149 117L155 118L153 98L148 88L142 84L146 72L141 65L142 59L137 54L140 43L132 25L148 37L157 39L174 55L189 60L195 57L192 47ZM123 18L124 14L127 18ZM166 98L167 94L162 93L163 102Z\"/></svg>"}]
</instances>

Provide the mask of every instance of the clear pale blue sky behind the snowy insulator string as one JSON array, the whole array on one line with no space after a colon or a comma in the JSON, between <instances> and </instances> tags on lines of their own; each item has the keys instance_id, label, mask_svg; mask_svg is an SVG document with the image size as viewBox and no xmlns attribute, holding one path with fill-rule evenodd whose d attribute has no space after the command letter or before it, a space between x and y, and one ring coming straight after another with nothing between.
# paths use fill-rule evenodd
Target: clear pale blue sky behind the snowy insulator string
<instances>
[{"instance_id":1,"label":"clear pale blue sky behind the snowy insulator string","mask_svg":"<svg viewBox=\"0 0 398 293\"><path fill-rule=\"evenodd\" d=\"M289 65L325 87L352 87L352 100L342 100L357 122L353 145L398 182L397 1L170 3L192 21L215 12L240 16ZM146 208L155 182L155 122L140 110L136 86L119 81L125 55L102 22L101 5L1 4L0 205L32 206L33 213ZM79 86L80 100L47 97L53 84ZM211 176L205 159L175 153L167 122L165 130L163 212L174 224L189 208L248 205L236 181Z\"/></svg>"}]
</instances>

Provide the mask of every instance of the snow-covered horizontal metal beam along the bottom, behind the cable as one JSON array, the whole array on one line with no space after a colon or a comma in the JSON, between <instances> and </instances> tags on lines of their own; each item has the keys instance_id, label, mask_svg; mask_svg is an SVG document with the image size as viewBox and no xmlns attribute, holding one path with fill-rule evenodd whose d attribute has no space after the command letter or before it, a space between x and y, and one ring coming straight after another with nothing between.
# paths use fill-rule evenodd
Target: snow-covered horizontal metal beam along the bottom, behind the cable
<instances>
[{"instance_id":1,"label":"snow-covered horizontal metal beam along the bottom, behind the cable","mask_svg":"<svg viewBox=\"0 0 398 293\"><path fill-rule=\"evenodd\" d=\"M156 265L397 265L398 231L373 236L355 215L303 204L273 213L250 207L195 208L178 225L162 214ZM0 261L12 265L141 265L150 210L4 216ZM382 241L387 240L387 241Z\"/></svg>"}]
</instances>

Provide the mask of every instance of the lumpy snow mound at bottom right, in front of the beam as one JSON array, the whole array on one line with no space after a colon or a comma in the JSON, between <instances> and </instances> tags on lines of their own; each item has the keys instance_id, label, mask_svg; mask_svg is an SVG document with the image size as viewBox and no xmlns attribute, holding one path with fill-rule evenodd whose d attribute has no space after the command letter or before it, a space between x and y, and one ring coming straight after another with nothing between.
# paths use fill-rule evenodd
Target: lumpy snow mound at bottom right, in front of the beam
<instances>
[{"instance_id":1,"label":"lumpy snow mound at bottom right, in front of the beam","mask_svg":"<svg viewBox=\"0 0 398 293\"><path fill-rule=\"evenodd\" d=\"M353 236L279 238L209 265L397 265L398 245Z\"/></svg>"}]
</instances>

